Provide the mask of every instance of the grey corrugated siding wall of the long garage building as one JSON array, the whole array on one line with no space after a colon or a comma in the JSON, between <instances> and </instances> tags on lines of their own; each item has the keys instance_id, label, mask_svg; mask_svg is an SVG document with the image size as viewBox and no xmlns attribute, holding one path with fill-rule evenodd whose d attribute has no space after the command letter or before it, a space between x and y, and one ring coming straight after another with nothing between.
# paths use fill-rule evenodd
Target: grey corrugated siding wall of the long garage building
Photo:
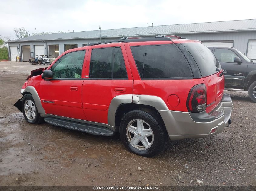
<instances>
[{"instance_id":1,"label":"grey corrugated siding wall of the long garage building","mask_svg":"<svg viewBox=\"0 0 256 191\"><path fill-rule=\"evenodd\" d=\"M174 34L175 35L175 34ZM234 48L240 50L242 53L246 53L248 40L256 39L256 32L226 32L226 33L200 33L200 34L179 34L179 36L187 39L195 39L201 41L212 41L212 40L234 40ZM107 40L118 40L119 38L107 38L101 39L102 41ZM99 42L100 39L71 39L71 40L50 40L50 41L31 41L31 42L21 42L21 43L8 43L9 46L18 46L18 54L21 56L21 46L30 45L31 56L34 56L34 45L44 45L45 54L48 53L48 45L59 45L60 54L64 52L64 44L78 44L78 47L83 46L83 44ZM10 57L10 53L9 53Z\"/></svg>"}]
</instances>

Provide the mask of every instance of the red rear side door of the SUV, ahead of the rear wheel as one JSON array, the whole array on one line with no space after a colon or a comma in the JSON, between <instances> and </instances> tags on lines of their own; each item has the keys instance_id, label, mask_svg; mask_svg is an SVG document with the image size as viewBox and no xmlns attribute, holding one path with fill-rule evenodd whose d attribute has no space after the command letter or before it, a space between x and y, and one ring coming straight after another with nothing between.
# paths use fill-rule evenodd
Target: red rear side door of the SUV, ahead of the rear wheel
<instances>
[{"instance_id":1,"label":"red rear side door of the SUV, ahead of the rear wheel","mask_svg":"<svg viewBox=\"0 0 256 191\"><path fill-rule=\"evenodd\" d=\"M111 100L133 93L133 79L123 43L109 46L89 50L89 67L85 71L88 78L85 78L82 96L87 120L106 124Z\"/></svg>"}]
</instances>

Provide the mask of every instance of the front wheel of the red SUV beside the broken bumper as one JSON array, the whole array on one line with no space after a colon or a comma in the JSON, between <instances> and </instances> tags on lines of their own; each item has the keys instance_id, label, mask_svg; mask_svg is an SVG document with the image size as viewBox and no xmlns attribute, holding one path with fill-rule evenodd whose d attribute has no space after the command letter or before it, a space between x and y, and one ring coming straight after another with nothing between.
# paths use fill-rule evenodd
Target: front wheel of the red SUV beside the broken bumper
<instances>
[{"instance_id":1,"label":"front wheel of the red SUV beside the broken bumper","mask_svg":"<svg viewBox=\"0 0 256 191\"><path fill-rule=\"evenodd\" d=\"M44 118L38 113L35 101L30 94L26 94L22 98L22 113L28 123L39 124L44 122Z\"/></svg>"}]
</instances>

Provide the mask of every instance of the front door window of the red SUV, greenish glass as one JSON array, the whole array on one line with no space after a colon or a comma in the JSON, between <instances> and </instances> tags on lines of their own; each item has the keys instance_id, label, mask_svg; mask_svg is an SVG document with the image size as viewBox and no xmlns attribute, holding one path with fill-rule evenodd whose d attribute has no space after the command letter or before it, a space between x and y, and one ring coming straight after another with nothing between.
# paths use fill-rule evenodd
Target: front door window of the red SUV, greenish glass
<instances>
[{"instance_id":1,"label":"front door window of the red SUV, greenish glass","mask_svg":"<svg viewBox=\"0 0 256 191\"><path fill-rule=\"evenodd\" d=\"M81 78L85 50L67 53L52 66L54 79Z\"/></svg>"}]
</instances>

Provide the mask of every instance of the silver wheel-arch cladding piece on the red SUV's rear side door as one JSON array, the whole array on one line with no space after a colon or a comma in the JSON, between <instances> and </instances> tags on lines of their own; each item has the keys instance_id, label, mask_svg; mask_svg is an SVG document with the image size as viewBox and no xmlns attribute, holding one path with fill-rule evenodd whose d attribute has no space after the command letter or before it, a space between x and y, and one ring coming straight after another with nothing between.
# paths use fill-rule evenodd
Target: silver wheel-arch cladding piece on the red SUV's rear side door
<instances>
[{"instance_id":1,"label":"silver wheel-arch cladding piece on the red SUV's rear side door","mask_svg":"<svg viewBox=\"0 0 256 191\"><path fill-rule=\"evenodd\" d=\"M131 103L133 94L123 94L114 97L108 108L108 125L115 126L115 113L119 105L123 103Z\"/></svg>"}]
</instances>

